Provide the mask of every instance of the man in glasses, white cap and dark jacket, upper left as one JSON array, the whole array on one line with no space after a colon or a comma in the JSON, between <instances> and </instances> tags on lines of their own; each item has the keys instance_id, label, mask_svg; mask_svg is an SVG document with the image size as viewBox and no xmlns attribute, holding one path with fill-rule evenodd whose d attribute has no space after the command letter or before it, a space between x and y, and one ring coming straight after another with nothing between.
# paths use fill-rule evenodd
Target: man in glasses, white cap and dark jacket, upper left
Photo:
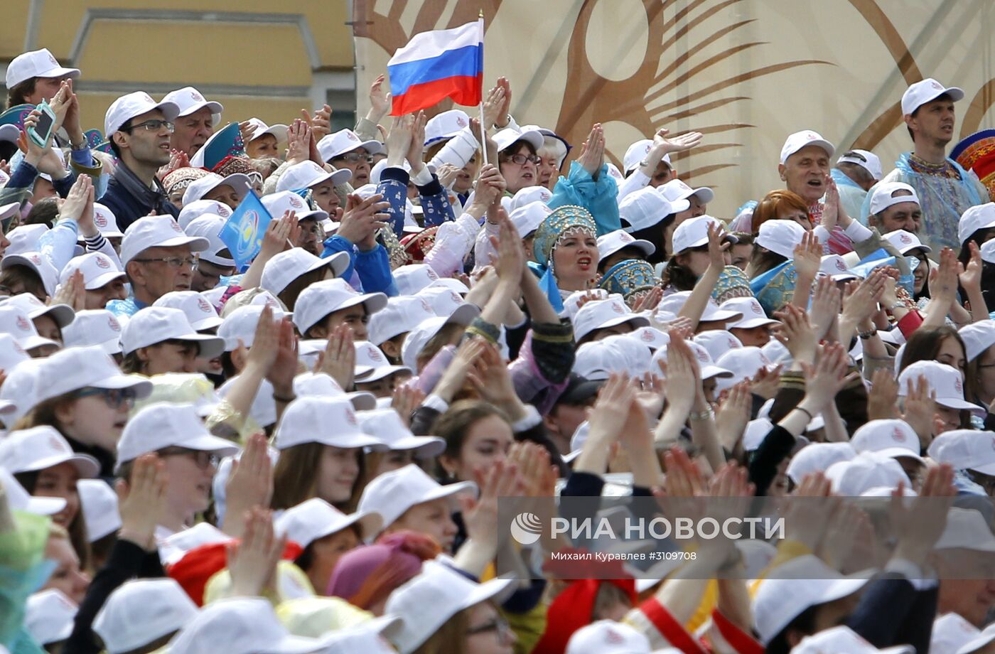
<instances>
[{"instance_id":1,"label":"man in glasses, white cap and dark jacket, upper left","mask_svg":"<svg viewBox=\"0 0 995 654\"><path fill-rule=\"evenodd\" d=\"M159 168L169 163L172 121L179 111L175 103L156 103L140 91L121 96L107 109L103 129L118 163L100 203L122 228L153 211L179 215L157 176Z\"/></svg>"}]
</instances>

